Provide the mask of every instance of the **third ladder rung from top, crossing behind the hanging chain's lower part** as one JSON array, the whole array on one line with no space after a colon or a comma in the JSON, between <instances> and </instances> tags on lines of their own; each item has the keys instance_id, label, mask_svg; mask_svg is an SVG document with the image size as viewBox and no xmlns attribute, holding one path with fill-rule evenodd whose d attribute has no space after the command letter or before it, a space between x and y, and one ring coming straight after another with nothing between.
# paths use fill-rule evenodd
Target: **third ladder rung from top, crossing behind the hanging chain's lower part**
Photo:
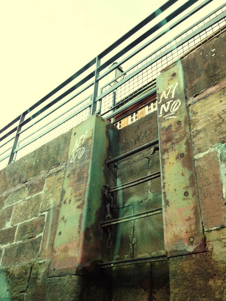
<instances>
[{"instance_id":1,"label":"third ladder rung from top, crossing behind the hanging chain's lower part","mask_svg":"<svg viewBox=\"0 0 226 301\"><path fill-rule=\"evenodd\" d=\"M142 219L143 217L152 216L152 215L160 214L160 213L162 213L162 207L151 209L151 210L140 212L140 213L134 213L134 214L127 215L124 217L120 217L118 219L111 219L110 221L101 222L100 224L101 224L101 227L104 228L104 227L109 227L109 226L116 225L116 224L121 224L124 222L133 221L134 219Z\"/></svg>"}]
</instances>

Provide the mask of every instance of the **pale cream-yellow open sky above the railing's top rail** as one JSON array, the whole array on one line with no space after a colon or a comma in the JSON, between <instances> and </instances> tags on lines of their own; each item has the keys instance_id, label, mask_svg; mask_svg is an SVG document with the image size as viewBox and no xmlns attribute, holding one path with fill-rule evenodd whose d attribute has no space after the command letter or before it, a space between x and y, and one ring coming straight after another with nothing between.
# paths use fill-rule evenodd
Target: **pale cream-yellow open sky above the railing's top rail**
<instances>
[{"instance_id":1,"label":"pale cream-yellow open sky above the railing's top rail","mask_svg":"<svg viewBox=\"0 0 226 301\"><path fill-rule=\"evenodd\" d=\"M164 2L2 1L0 129Z\"/></svg>"}]
</instances>

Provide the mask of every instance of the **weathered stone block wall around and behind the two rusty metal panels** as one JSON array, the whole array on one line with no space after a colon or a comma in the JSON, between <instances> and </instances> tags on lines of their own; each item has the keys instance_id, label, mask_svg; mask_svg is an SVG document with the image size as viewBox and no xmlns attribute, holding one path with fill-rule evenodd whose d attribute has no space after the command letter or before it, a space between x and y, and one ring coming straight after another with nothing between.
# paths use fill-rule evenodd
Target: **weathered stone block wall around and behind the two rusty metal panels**
<instances>
[{"instance_id":1,"label":"weathered stone block wall around and behind the two rusty metal panels","mask_svg":"<svg viewBox=\"0 0 226 301\"><path fill-rule=\"evenodd\" d=\"M96 278L49 278L69 131L0 171L0 300L226 300L225 39L226 34L222 34L182 60L206 252L103 268ZM113 138L109 138L108 157L156 138L154 112L121 130L115 129ZM159 151L152 147L110 166L107 182L112 187L117 178L123 183L157 169ZM159 206L160 186L157 178L123 191L122 198L114 194L114 218ZM102 220L105 215L103 212ZM110 251L106 248L108 234L103 231L102 261L151 256L162 250L161 219L155 221L153 231L149 222L140 222L142 219L124 223L117 252L114 237L116 240L118 230ZM143 233L143 229L149 231Z\"/></svg>"}]
</instances>

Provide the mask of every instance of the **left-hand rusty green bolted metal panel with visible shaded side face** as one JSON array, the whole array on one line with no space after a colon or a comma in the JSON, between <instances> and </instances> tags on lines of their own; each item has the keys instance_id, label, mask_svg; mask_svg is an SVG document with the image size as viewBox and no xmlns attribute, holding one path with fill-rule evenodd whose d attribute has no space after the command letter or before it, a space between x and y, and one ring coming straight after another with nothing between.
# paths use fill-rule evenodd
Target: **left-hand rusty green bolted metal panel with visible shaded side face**
<instances>
[{"instance_id":1,"label":"left-hand rusty green bolted metal panel with visible shaded side face","mask_svg":"<svg viewBox=\"0 0 226 301\"><path fill-rule=\"evenodd\" d=\"M93 115L72 130L49 277L96 276L110 127Z\"/></svg>"}]
</instances>

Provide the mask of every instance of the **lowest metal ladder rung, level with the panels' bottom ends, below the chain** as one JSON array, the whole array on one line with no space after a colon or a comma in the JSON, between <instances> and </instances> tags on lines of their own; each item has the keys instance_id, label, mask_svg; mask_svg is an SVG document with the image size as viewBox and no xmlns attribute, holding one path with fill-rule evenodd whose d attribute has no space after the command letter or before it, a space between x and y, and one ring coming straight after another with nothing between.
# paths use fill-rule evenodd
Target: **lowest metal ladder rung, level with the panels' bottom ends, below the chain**
<instances>
[{"instance_id":1,"label":"lowest metal ladder rung, level with the panels' bottom ends, below the chain","mask_svg":"<svg viewBox=\"0 0 226 301\"><path fill-rule=\"evenodd\" d=\"M153 261L162 261L162 260L167 260L167 256L160 254L160 255L155 255L155 256L150 256L150 257L109 261L109 262L105 262L105 263L98 263L97 265L98 265L98 268L114 268L115 266L132 265L132 264L153 262Z\"/></svg>"}]
</instances>

